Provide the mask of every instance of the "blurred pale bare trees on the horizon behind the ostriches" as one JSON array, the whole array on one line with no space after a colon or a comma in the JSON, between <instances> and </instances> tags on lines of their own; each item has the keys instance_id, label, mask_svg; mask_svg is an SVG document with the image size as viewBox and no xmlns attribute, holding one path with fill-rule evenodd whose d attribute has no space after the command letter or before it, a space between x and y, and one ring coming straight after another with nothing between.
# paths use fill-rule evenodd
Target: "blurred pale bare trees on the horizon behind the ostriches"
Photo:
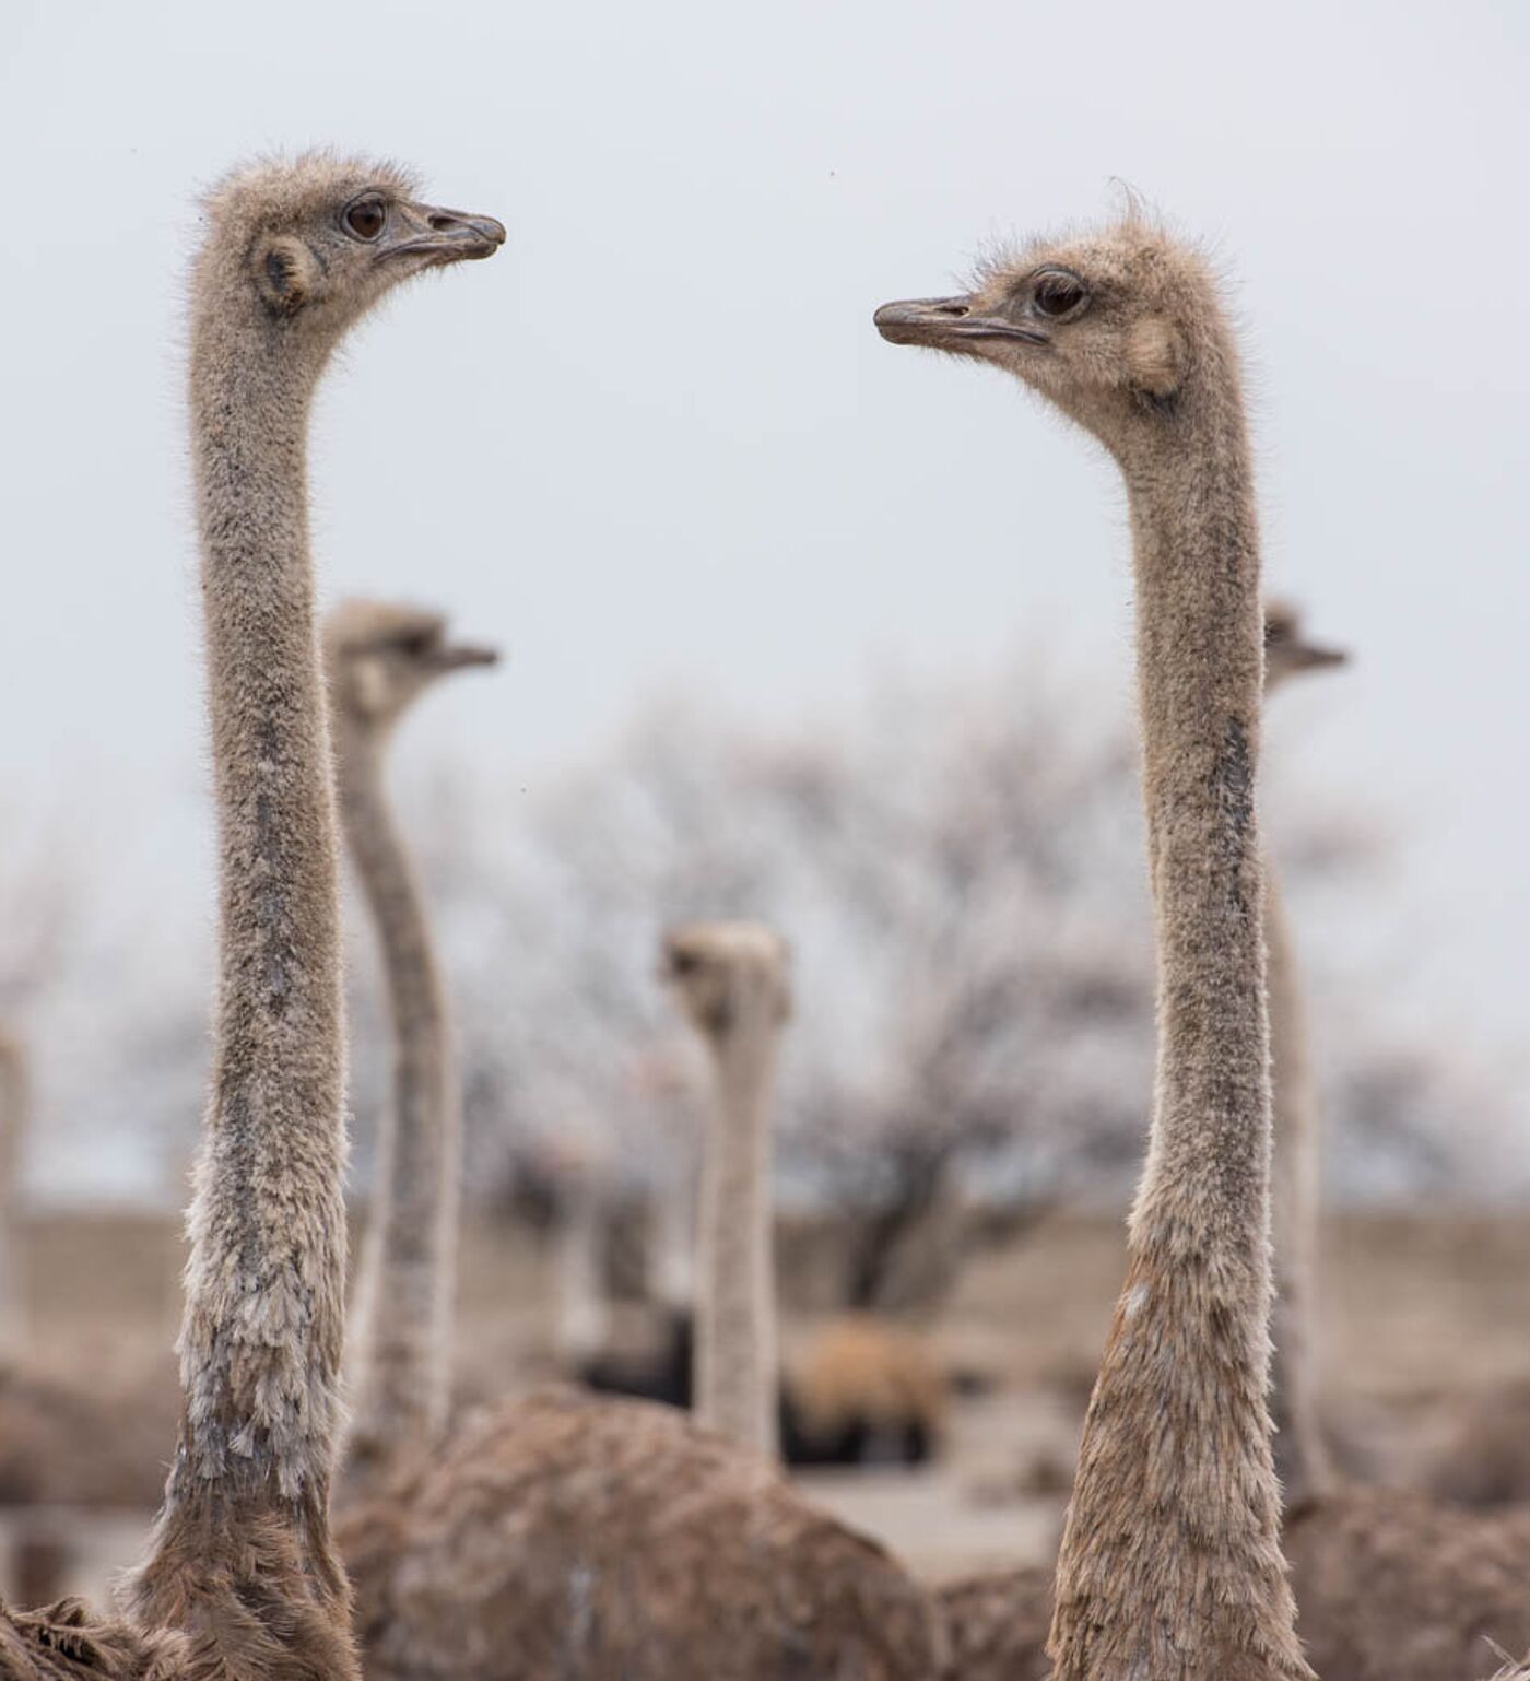
<instances>
[{"instance_id":1,"label":"blurred pale bare trees on the horizon behind the ostriches","mask_svg":"<svg viewBox=\"0 0 1530 1681\"><path fill-rule=\"evenodd\" d=\"M888 679L792 730L654 701L535 795L466 763L405 770L457 1009L467 1195L546 1204L570 1145L612 1200L681 1183L703 1071L654 980L657 938L752 916L794 948L778 1194L834 1210L841 1304L930 1306L985 1241L1120 1202L1153 977L1135 748L1108 696L1031 649L955 684ZM1389 893L1397 842L1360 795L1305 785L1300 758L1276 740L1266 807L1313 993L1330 1195L1522 1194L1523 1150L1483 1150L1512 1136L1510 1071L1392 1002L1387 965L1427 955ZM177 1162L203 1078L197 908L155 906L86 963L55 854L13 856L0 896L18 930L0 1000L37 1027L45 1101L77 1104L74 1146L99 1133L113 1162ZM351 911L365 1187L388 1052ZM69 1042L84 1019L87 1054Z\"/></svg>"}]
</instances>

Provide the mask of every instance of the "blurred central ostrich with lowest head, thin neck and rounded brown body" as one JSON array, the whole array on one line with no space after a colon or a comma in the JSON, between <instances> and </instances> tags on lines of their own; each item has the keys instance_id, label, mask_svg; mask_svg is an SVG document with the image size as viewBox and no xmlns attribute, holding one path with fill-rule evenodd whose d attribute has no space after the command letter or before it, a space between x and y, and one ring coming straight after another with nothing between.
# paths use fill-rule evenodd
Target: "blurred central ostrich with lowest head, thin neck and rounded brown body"
<instances>
[{"instance_id":1,"label":"blurred central ostrich with lowest head, thin neck and rounded brown body","mask_svg":"<svg viewBox=\"0 0 1530 1681\"><path fill-rule=\"evenodd\" d=\"M688 925L661 973L708 1035L723 1094L699 1315L721 1358L703 1362L699 1394L735 1437L768 1442L763 1153L785 951L762 928ZM543 1392L486 1409L340 1535L373 1681L928 1681L940 1664L928 1597L879 1547L762 1452L652 1402Z\"/></svg>"}]
</instances>

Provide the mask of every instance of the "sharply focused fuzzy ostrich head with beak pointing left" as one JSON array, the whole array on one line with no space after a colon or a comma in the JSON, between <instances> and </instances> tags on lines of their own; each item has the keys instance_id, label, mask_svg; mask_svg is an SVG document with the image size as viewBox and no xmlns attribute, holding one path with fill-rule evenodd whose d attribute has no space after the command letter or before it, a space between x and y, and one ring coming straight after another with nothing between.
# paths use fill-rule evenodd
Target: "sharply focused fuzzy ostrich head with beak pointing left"
<instances>
[{"instance_id":1,"label":"sharply focused fuzzy ostrich head with beak pointing left","mask_svg":"<svg viewBox=\"0 0 1530 1681\"><path fill-rule=\"evenodd\" d=\"M874 319L894 345L1005 368L1123 459L1192 407L1204 370L1231 366L1206 264L1137 215L990 259L970 292Z\"/></svg>"}]
</instances>

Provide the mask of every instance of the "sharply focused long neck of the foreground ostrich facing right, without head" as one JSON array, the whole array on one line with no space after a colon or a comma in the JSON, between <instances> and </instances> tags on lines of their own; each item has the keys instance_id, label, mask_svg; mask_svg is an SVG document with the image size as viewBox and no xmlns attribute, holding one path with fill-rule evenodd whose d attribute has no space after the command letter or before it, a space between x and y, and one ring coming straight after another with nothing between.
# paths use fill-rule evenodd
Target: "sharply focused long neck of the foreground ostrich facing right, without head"
<instances>
[{"instance_id":1,"label":"sharply focused long neck of the foreground ostrich facing right, without head","mask_svg":"<svg viewBox=\"0 0 1530 1681\"><path fill-rule=\"evenodd\" d=\"M230 1594L249 1617L277 1604L272 1637L330 1642L324 1664L345 1676L348 1589L328 1528L345 1293L340 914L304 481L321 365L198 304L219 973L180 1439L129 1602L146 1624L200 1632L224 1627Z\"/></svg>"}]
</instances>

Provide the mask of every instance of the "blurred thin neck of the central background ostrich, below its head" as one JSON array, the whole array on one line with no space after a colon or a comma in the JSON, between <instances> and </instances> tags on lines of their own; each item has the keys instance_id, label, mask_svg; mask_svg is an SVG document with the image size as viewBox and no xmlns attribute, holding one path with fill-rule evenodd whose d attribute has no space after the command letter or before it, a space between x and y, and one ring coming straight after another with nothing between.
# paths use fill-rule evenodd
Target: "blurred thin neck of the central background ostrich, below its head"
<instances>
[{"instance_id":1,"label":"blurred thin neck of the central background ostrich, below its head","mask_svg":"<svg viewBox=\"0 0 1530 1681\"><path fill-rule=\"evenodd\" d=\"M780 1027L741 1012L708 1035L716 1103L701 1160L696 1415L777 1452L770 1099Z\"/></svg>"}]
</instances>

